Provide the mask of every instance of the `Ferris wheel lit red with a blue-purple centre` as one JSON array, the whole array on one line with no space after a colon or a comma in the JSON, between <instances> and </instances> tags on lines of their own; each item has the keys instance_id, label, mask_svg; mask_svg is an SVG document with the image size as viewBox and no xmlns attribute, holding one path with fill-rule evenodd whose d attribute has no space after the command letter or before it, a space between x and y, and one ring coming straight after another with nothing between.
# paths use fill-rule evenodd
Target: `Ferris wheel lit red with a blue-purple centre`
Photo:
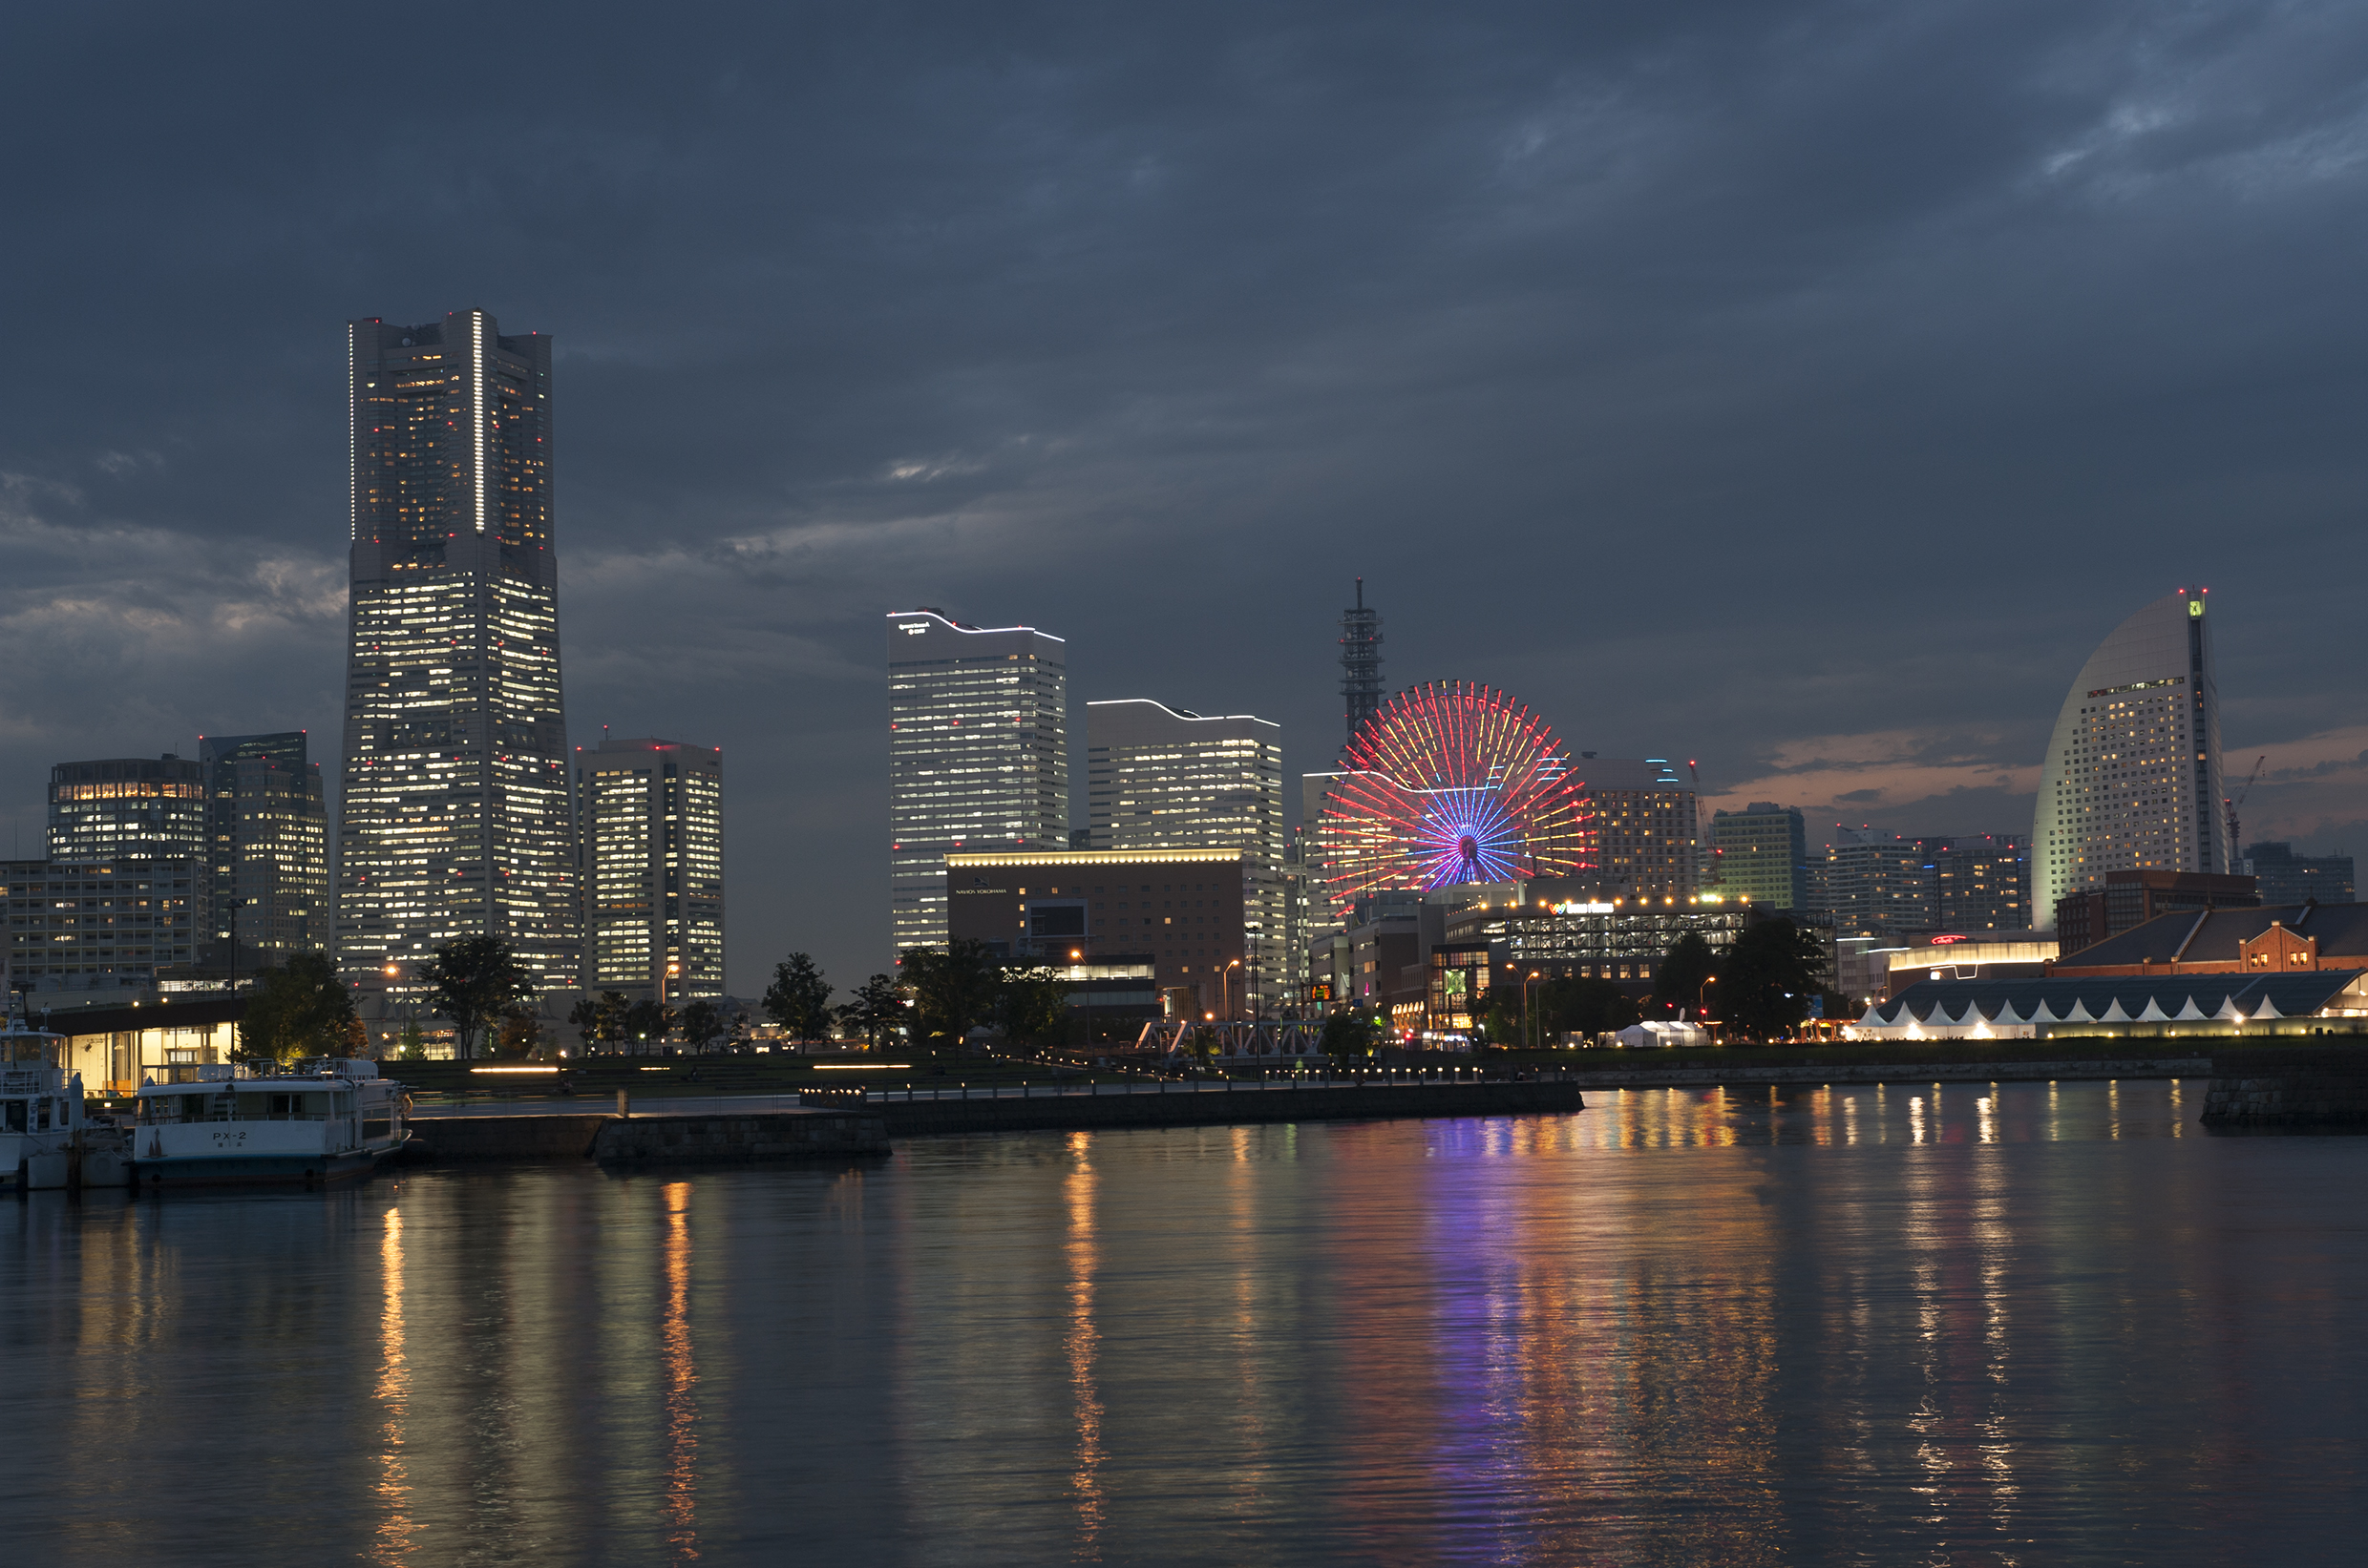
<instances>
[{"instance_id":1,"label":"Ferris wheel lit red with a blue-purple centre","mask_svg":"<svg viewBox=\"0 0 2368 1568\"><path fill-rule=\"evenodd\" d=\"M1385 888L1591 872L1594 808L1553 730L1461 680L1399 692L1350 739L1317 822L1338 910Z\"/></svg>"}]
</instances>

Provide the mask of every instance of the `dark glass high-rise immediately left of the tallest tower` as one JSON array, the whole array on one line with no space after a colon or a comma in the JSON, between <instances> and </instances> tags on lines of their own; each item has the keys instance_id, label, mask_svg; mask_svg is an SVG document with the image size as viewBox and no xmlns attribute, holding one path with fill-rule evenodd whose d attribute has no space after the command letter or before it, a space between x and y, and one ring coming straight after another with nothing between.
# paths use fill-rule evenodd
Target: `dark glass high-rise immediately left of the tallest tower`
<instances>
[{"instance_id":1,"label":"dark glass high-rise immediately left of the tallest tower","mask_svg":"<svg viewBox=\"0 0 2368 1568\"><path fill-rule=\"evenodd\" d=\"M303 730L206 734L206 943L287 957L329 945L329 808ZM211 959L208 959L211 962Z\"/></svg>"}]
</instances>

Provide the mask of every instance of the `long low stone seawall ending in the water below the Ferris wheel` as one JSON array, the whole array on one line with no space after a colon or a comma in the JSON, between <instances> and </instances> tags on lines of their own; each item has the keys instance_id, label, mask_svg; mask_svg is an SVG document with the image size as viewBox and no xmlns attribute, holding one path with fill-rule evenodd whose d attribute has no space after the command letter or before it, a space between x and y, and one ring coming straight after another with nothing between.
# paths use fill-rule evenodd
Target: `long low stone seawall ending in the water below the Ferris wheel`
<instances>
[{"instance_id":1,"label":"long low stone seawall ending in the water below the Ferris wheel","mask_svg":"<svg viewBox=\"0 0 2368 1568\"><path fill-rule=\"evenodd\" d=\"M1212 1127L1234 1123L1539 1116L1584 1111L1575 1082L1437 1082L1366 1090L1222 1090L1203 1094L1047 1094L1042 1099L893 1099L871 1106L890 1137Z\"/></svg>"}]
</instances>

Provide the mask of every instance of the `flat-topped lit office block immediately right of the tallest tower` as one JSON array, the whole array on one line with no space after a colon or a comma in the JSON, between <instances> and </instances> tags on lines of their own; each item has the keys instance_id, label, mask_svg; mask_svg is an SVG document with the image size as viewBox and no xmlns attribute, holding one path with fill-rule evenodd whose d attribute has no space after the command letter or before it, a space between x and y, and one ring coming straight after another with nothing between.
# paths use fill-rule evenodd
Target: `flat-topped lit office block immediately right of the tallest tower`
<instances>
[{"instance_id":1,"label":"flat-topped lit office block immediately right of the tallest tower","mask_svg":"<svg viewBox=\"0 0 2368 1568\"><path fill-rule=\"evenodd\" d=\"M585 990L725 995L725 753L601 739L575 751Z\"/></svg>"}]
</instances>

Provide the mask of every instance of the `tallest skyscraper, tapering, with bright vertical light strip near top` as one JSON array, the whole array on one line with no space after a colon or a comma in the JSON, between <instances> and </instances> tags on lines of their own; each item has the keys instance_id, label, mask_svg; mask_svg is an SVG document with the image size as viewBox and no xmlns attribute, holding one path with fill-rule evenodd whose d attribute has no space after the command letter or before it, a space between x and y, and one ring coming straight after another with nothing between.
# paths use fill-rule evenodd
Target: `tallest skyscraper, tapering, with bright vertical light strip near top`
<instances>
[{"instance_id":1,"label":"tallest skyscraper, tapering, with bright vertical light strip near top","mask_svg":"<svg viewBox=\"0 0 2368 1568\"><path fill-rule=\"evenodd\" d=\"M369 317L348 327L348 374L339 969L365 1021L388 995L414 1002L459 936L502 938L542 988L571 988L552 339L502 336L483 310Z\"/></svg>"}]
</instances>

